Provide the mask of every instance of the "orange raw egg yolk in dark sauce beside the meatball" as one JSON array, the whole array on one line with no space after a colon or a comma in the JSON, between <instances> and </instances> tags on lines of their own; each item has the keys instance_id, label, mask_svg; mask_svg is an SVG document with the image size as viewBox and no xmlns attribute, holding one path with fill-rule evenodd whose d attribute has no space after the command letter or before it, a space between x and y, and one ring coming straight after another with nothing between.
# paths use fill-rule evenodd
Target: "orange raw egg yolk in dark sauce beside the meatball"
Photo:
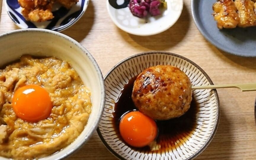
<instances>
[{"instance_id":1,"label":"orange raw egg yolk in dark sauce beside the meatball","mask_svg":"<svg viewBox=\"0 0 256 160\"><path fill-rule=\"evenodd\" d=\"M157 135L156 122L139 111L125 114L121 118L119 130L124 141L133 147L144 147Z\"/></svg>"}]
</instances>

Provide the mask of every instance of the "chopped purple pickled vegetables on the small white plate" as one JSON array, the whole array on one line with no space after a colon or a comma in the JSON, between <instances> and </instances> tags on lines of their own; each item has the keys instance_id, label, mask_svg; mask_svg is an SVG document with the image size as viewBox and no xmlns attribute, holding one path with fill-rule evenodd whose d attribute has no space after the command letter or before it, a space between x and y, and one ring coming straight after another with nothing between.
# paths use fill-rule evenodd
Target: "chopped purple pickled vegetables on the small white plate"
<instances>
[{"instance_id":1,"label":"chopped purple pickled vegetables on the small white plate","mask_svg":"<svg viewBox=\"0 0 256 160\"><path fill-rule=\"evenodd\" d=\"M160 15L160 0L130 0L129 9L136 17L146 17L148 13L152 16Z\"/></svg>"}]
</instances>

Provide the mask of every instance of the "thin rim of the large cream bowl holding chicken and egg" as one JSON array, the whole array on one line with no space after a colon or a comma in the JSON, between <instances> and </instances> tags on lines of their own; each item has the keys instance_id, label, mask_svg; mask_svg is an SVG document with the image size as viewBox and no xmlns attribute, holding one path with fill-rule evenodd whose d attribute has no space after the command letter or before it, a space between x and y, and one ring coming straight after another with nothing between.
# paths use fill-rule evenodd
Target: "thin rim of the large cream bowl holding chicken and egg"
<instances>
[{"instance_id":1,"label":"thin rim of the large cream bowl holding chicken and egg","mask_svg":"<svg viewBox=\"0 0 256 160\"><path fill-rule=\"evenodd\" d=\"M104 79L103 79L103 74L100 70L99 65L97 64L96 60L94 59L94 57L91 55L91 53L85 48L83 47L79 42L77 42L76 40L74 40L73 38L63 34L63 33L59 33L57 31L52 31L52 30L48 30L48 29L40 29L40 28L27 28L27 29L18 29L18 30L14 30L14 31L10 31L7 33L3 33L0 34L0 40L4 39L6 36L10 35L10 34L19 34L22 32L41 32L41 33L47 33L47 34L53 34L55 36L58 36L60 38L66 39L68 41L70 41L71 43L75 44L77 47L79 47L79 49L81 49L83 51L83 53L85 55L87 55L87 57L89 58L89 60L92 62L96 72L97 72L97 76L99 78L100 81L100 88L101 88L101 97L102 100L100 102L100 112L96 118L96 121L93 123L92 128L89 130L89 132L87 133L86 137L84 137L83 141L80 141L75 148L72 148L69 152L67 153L63 153L63 155L61 155L60 157L58 157L56 160L59 159L64 159L68 156L70 156L72 153L74 153L75 151L79 150L89 139L90 137L92 137L93 133L95 132L95 130L97 129L97 126L101 120L102 114L103 114L103 109L105 106L105 85L104 85ZM79 135L80 136L80 135ZM73 143L73 142L72 142ZM50 158L52 155L54 155L55 153L47 156L47 157L43 157L45 159ZM1 159L1 157L0 157Z\"/></svg>"}]
</instances>

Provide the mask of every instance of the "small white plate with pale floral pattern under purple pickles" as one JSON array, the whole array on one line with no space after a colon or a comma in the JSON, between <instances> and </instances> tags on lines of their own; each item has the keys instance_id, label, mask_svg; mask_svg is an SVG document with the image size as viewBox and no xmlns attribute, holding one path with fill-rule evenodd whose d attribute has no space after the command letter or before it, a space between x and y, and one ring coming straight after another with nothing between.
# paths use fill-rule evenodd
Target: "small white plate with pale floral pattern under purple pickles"
<instances>
[{"instance_id":1,"label":"small white plate with pale floral pattern under purple pickles","mask_svg":"<svg viewBox=\"0 0 256 160\"><path fill-rule=\"evenodd\" d=\"M166 0L167 9L162 15L149 18L138 18L132 15L128 4L130 0L107 0L108 13L113 22L123 31L149 36L169 29L179 19L183 0Z\"/></svg>"}]
</instances>

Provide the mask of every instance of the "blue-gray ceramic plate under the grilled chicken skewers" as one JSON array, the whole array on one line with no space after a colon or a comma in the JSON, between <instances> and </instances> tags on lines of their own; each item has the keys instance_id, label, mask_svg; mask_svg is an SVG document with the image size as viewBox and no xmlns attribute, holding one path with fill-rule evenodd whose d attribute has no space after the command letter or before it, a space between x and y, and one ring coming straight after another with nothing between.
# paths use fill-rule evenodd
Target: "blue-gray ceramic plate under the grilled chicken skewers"
<instances>
[{"instance_id":1,"label":"blue-gray ceramic plate under the grilled chicken skewers","mask_svg":"<svg viewBox=\"0 0 256 160\"><path fill-rule=\"evenodd\" d=\"M256 27L217 28L212 4L217 0L192 0L192 15L202 35L217 48L239 56L256 57Z\"/></svg>"}]
</instances>

